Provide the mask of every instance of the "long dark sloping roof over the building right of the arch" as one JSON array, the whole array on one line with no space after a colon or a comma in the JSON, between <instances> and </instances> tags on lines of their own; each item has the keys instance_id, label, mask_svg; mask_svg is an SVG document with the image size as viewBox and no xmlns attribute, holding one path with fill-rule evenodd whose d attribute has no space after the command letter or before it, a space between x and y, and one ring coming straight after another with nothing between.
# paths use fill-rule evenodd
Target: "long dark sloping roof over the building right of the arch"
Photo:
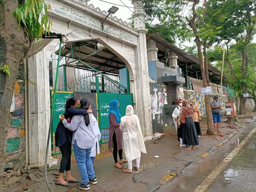
<instances>
[{"instance_id":1,"label":"long dark sloping roof over the building right of the arch","mask_svg":"<svg viewBox=\"0 0 256 192\"><path fill-rule=\"evenodd\" d=\"M165 62L166 51L171 50L176 53L178 56L178 66L183 70L183 74L186 75L186 70L188 72L188 76L200 79L201 70L199 59L194 55L189 55L168 41L158 37L156 34L147 35L147 40L153 40L156 42L156 46L158 48L158 59L162 62ZM221 72L215 69L213 66L208 64L209 70L209 78L211 82L219 84L221 81Z\"/></svg>"}]
</instances>

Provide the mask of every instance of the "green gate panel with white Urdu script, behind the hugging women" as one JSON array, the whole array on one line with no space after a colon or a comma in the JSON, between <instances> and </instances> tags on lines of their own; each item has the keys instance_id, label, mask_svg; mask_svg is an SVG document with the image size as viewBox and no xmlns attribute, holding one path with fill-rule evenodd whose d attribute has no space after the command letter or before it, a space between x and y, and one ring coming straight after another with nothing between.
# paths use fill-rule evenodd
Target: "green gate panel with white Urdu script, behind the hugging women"
<instances>
[{"instance_id":1,"label":"green gate panel with white Urdu script, behind the hugging women","mask_svg":"<svg viewBox=\"0 0 256 192\"><path fill-rule=\"evenodd\" d=\"M51 91L51 96L53 91ZM73 97L73 92L69 91L56 91L55 92L55 105L52 114L52 133L55 133L57 125L59 123L59 115L65 113L65 104L67 99Z\"/></svg>"}]
</instances>

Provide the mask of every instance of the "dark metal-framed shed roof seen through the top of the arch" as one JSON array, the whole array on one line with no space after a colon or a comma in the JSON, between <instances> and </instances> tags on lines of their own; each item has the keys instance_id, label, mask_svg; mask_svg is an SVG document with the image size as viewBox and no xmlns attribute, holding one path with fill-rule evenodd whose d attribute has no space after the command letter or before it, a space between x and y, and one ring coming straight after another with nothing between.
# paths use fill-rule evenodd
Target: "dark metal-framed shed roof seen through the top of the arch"
<instances>
[{"instance_id":1,"label":"dark metal-framed shed roof seen through the top of the arch","mask_svg":"<svg viewBox=\"0 0 256 192\"><path fill-rule=\"evenodd\" d=\"M102 46L97 39L67 41L61 48L61 56L66 59L67 66L73 66L72 61L74 59L75 67L89 69L76 61L81 60L102 73L119 74L119 70L125 68L125 63L113 52ZM99 50L101 48L103 49ZM95 52L97 53L93 54ZM58 53L58 50L56 53Z\"/></svg>"}]
</instances>

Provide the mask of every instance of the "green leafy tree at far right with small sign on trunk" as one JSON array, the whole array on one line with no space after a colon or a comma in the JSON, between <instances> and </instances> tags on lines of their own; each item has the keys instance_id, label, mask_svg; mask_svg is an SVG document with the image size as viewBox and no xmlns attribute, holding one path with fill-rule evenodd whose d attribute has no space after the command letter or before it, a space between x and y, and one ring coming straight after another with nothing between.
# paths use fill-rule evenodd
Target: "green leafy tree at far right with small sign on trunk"
<instances>
[{"instance_id":1,"label":"green leafy tree at far right with small sign on trunk","mask_svg":"<svg viewBox=\"0 0 256 192\"><path fill-rule=\"evenodd\" d=\"M256 33L256 2L255 0L210 0L206 15L207 23L221 27L214 42L226 47L225 58L230 75L236 82L241 83L241 86L236 87L240 93L240 114L245 114L246 98L243 98L242 94L247 93L250 86L247 83L251 77L248 70L250 56L247 46ZM233 52L241 53L242 59L237 58L232 61Z\"/></svg>"}]
</instances>

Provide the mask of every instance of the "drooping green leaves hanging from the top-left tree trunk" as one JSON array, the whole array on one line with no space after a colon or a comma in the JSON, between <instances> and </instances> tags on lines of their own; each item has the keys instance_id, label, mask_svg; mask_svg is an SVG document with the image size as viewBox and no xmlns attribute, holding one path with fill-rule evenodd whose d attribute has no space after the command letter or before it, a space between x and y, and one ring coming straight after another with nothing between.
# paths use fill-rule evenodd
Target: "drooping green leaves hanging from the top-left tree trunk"
<instances>
[{"instance_id":1,"label":"drooping green leaves hanging from the top-left tree trunk","mask_svg":"<svg viewBox=\"0 0 256 192\"><path fill-rule=\"evenodd\" d=\"M52 21L47 17L50 5L44 0L25 0L24 4L19 1L13 16L17 18L18 29L24 27L25 31L33 39L39 39L47 31L50 33Z\"/></svg>"}]
</instances>

